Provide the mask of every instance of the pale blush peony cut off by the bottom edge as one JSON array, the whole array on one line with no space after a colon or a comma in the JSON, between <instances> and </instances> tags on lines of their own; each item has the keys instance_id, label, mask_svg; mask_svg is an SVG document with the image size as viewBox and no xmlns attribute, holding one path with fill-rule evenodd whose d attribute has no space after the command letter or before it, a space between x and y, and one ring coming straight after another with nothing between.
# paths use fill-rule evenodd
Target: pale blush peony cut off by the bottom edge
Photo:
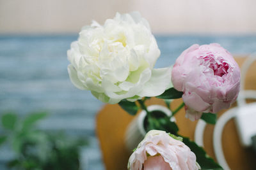
<instances>
[{"instance_id":1,"label":"pale blush peony cut off by the bottom edge","mask_svg":"<svg viewBox=\"0 0 256 170\"><path fill-rule=\"evenodd\" d=\"M196 170L195 153L164 131L149 131L132 153L129 170Z\"/></svg>"}]
</instances>

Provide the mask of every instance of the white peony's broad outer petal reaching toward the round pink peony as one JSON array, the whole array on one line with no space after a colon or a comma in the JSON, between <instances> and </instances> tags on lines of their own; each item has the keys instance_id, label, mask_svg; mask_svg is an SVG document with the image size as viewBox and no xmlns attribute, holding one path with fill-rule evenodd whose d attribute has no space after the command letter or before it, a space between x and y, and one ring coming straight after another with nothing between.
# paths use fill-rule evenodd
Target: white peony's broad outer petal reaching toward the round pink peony
<instances>
[{"instance_id":1,"label":"white peony's broad outer petal reaching toward the round pink peony","mask_svg":"<svg viewBox=\"0 0 256 170\"><path fill-rule=\"evenodd\" d=\"M141 97L159 96L170 86L172 67L153 69L152 76L145 83L143 90L138 94Z\"/></svg>"}]
</instances>

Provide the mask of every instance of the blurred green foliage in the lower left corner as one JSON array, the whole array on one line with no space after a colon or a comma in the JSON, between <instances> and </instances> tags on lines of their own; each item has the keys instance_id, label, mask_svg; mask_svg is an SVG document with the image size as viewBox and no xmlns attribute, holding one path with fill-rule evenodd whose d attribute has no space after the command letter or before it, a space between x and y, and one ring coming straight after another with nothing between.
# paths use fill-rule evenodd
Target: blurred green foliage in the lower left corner
<instances>
[{"instance_id":1,"label":"blurred green foliage in the lower left corner","mask_svg":"<svg viewBox=\"0 0 256 170\"><path fill-rule=\"evenodd\" d=\"M68 138L63 132L40 131L36 123L47 117L47 113L31 113L19 118L15 113L4 113L1 117L3 135L0 146L8 143L15 159L10 160L9 169L79 169L79 148L86 145L83 138Z\"/></svg>"}]
</instances>

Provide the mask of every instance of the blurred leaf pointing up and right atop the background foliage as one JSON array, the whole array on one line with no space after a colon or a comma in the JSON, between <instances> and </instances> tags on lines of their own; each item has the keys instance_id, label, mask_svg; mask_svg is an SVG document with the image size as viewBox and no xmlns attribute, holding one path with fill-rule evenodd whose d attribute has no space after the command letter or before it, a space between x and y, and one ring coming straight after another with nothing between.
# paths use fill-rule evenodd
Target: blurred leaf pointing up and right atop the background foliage
<instances>
[{"instance_id":1,"label":"blurred leaf pointing up and right atop the background foliage","mask_svg":"<svg viewBox=\"0 0 256 170\"><path fill-rule=\"evenodd\" d=\"M42 120L47 116L47 113L45 112L39 112L39 113L31 113L28 115L28 117L25 118L23 124L22 124L22 130L29 129L29 127L33 126L38 122L39 120Z\"/></svg>"}]
</instances>

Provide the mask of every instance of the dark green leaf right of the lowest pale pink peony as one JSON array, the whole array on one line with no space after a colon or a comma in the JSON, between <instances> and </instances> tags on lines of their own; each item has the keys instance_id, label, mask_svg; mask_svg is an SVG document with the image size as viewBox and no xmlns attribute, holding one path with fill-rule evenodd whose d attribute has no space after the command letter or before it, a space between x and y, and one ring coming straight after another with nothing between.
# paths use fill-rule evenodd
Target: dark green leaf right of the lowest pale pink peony
<instances>
[{"instance_id":1,"label":"dark green leaf right of the lowest pale pink peony","mask_svg":"<svg viewBox=\"0 0 256 170\"><path fill-rule=\"evenodd\" d=\"M196 162L201 166L201 169L214 169L214 170L223 170L223 168L217 164L209 155L206 154L204 149L195 142L190 141L189 138L183 137L183 143L187 145L192 152L196 155Z\"/></svg>"}]
</instances>

